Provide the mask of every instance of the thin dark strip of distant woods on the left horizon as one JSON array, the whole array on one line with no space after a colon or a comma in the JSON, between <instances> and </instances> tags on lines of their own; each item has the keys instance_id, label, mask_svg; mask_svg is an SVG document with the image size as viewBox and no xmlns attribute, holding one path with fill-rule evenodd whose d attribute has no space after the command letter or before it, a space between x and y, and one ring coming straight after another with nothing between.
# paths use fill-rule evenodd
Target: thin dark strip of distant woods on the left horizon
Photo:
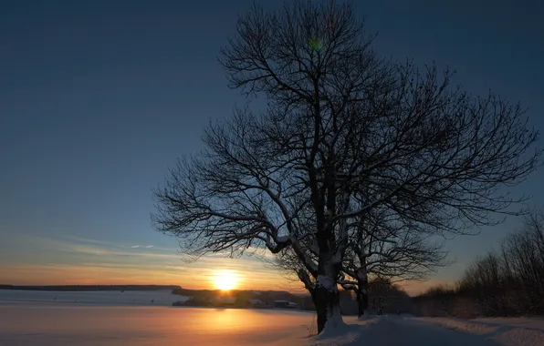
<instances>
[{"instance_id":1,"label":"thin dark strip of distant woods on the left horizon","mask_svg":"<svg viewBox=\"0 0 544 346\"><path fill-rule=\"evenodd\" d=\"M55 291L94 291L94 290L181 290L175 285L54 285L22 286L0 285L0 290L55 290Z\"/></svg>"}]
</instances>

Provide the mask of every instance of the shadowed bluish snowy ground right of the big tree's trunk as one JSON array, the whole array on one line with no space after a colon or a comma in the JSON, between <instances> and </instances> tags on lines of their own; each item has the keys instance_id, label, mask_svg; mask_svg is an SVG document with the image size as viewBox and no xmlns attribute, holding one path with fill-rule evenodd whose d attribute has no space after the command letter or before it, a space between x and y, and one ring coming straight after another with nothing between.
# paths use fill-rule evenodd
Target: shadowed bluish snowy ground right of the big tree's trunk
<instances>
[{"instance_id":1,"label":"shadowed bluish snowy ground right of the big tree's trunk","mask_svg":"<svg viewBox=\"0 0 544 346\"><path fill-rule=\"evenodd\" d=\"M375 317L344 319L350 325L338 336L318 337L312 346L542 346L544 320Z\"/></svg>"}]
</instances>

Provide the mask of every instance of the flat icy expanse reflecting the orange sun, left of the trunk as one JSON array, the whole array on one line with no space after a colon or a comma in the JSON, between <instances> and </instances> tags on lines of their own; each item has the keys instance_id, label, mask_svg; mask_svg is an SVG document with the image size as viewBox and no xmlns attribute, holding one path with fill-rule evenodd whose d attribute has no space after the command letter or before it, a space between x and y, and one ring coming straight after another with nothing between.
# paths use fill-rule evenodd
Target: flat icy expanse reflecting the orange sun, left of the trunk
<instances>
[{"instance_id":1,"label":"flat icy expanse reflecting the orange sun, left of the trunk","mask_svg":"<svg viewBox=\"0 0 544 346\"><path fill-rule=\"evenodd\" d=\"M0 345L283 345L307 337L303 325L314 319L296 311L164 306L175 300L180 296L158 291L0 290Z\"/></svg>"}]
</instances>

